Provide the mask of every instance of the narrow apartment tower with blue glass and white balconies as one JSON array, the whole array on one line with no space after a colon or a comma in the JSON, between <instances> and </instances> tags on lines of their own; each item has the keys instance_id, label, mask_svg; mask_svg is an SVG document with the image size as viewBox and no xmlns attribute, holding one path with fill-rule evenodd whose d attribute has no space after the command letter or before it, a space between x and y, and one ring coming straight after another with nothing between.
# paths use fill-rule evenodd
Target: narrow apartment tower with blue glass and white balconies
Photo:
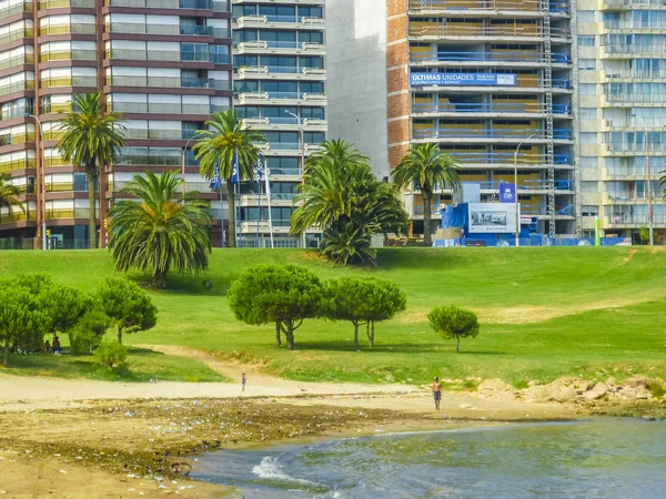
<instances>
[{"instance_id":1,"label":"narrow apartment tower with blue glass and white balconies","mask_svg":"<svg viewBox=\"0 0 666 499\"><path fill-rule=\"evenodd\" d=\"M275 246L315 246L317 231L293 237L289 226L303 161L326 138L324 0L232 3L234 108L266 138L271 189L269 208L263 184L241 185L242 245L268 246L272 228Z\"/></svg>"}]
</instances>

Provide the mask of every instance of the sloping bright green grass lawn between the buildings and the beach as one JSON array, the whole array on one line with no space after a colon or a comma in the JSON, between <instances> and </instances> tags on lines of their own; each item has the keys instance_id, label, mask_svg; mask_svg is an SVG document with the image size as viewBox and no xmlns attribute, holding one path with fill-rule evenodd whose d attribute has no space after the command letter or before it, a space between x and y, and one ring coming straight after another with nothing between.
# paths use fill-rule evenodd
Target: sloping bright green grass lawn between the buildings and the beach
<instances>
[{"instance_id":1,"label":"sloping bright green grass lawn between the buildings and the beach","mask_svg":"<svg viewBox=\"0 0 666 499\"><path fill-rule=\"evenodd\" d=\"M276 348L273 326L239 323L224 297L244 268L262 262L304 265L324 279L386 278L407 294L407 309L377 325L373 350L354 352L351 324L324 320L303 324L295 352ZM630 247L386 248L376 268L354 268L331 265L314 252L216 249L208 273L173 275L168 291L151 291L160 308L158 326L125 338L203 348L261 361L287 378L322 381L427 383L440 375L500 377L523 386L568 375L622 379L637 373L666 379L665 262L664 252ZM113 266L101 251L0 252L0 275L21 272L51 273L58 282L93 291ZM137 274L129 278L147 281ZM481 317L481 335L463 340L458 355L454 342L441 339L425 317L445 304ZM130 361L137 357L131 354ZM19 370L39 370L16 359ZM163 371L172 370L172 379L184 379L188 369L171 361L155 359ZM52 375L77 376L75 369L53 368ZM97 376L85 369L81 375Z\"/></svg>"}]
</instances>

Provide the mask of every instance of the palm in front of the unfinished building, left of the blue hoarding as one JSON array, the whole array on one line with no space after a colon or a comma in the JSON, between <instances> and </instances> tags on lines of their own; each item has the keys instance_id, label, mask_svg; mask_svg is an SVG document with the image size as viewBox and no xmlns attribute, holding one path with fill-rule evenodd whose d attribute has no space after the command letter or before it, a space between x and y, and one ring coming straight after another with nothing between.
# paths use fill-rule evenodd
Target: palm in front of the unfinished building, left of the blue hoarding
<instances>
[{"instance_id":1,"label":"palm in front of the unfinished building, left of the blue hoarding","mask_svg":"<svg viewBox=\"0 0 666 499\"><path fill-rule=\"evenodd\" d=\"M393 171L393 181L404 187L415 184L423 198L423 233L426 246L433 244L431 205L437 184L442 187L460 186L457 162L440 150L438 144L414 144Z\"/></svg>"}]
</instances>

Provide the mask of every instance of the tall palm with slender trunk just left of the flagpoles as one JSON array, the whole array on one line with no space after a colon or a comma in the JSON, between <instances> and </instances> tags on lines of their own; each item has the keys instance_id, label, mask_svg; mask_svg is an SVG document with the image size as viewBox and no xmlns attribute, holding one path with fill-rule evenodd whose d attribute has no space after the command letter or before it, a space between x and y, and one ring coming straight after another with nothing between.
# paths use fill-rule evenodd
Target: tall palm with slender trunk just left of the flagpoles
<instances>
[{"instance_id":1,"label":"tall palm with slender trunk just left of the flagpoles","mask_svg":"<svg viewBox=\"0 0 666 499\"><path fill-rule=\"evenodd\" d=\"M212 130L196 132L202 139L194 144L192 151L196 153L201 176L209 181L215 175L218 162L220 164L220 179L226 182L226 196L229 200L229 245L235 246L235 192L231 189L234 159L239 159L239 182L254 179L254 170L259 156L258 142L265 142L266 138L261 132L245 129L233 110L213 114L213 119L205 124Z\"/></svg>"}]
</instances>

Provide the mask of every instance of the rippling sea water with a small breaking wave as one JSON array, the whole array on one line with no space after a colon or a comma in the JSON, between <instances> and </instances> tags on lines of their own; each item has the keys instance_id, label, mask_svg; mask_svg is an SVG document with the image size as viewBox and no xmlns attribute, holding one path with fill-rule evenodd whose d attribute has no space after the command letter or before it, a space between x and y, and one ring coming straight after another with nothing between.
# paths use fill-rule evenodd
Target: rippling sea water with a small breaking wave
<instances>
[{"instance_id":1,"label":"rippling sea water with a small breaking wave","mask_svg":"<svg viewBox=\"0 0 666 499\"><path fill-rule=\"evenodd\" d=\"M386 434L206 455L195 478L254 498L666 498L666 421Z\"/></svg>"}]
</instances>

